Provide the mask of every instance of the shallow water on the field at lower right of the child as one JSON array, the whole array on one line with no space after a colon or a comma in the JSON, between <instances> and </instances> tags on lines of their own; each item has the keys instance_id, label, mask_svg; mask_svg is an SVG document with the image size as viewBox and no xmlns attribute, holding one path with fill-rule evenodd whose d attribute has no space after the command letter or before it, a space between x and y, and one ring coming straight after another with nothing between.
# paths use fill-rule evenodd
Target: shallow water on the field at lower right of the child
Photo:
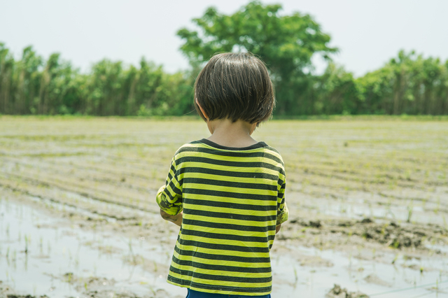
<instances>
[{"instance_id":1,"label":"shallow water on the field at lower right of the child","mask_svg":"<svg viewBox=\"0 0 448 298\"><path fill-rule=\"evenodd\" d=\"M442 257L418 260L395 255L394 264L384 264L332 250L299 247L290 251L295 258L272 254L274 293L281 297L325 297L334 284L370 297L448 297L448 262ZM394 259L392 253L382 257Z\"/></svg>"}]
</instances>

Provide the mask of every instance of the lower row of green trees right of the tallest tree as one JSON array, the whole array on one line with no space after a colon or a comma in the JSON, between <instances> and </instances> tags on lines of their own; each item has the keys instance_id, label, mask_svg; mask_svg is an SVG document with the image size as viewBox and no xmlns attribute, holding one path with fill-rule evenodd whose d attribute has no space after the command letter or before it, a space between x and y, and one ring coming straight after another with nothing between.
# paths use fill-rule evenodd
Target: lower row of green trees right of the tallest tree
<instances>
[{"instance_id":1,"label":"lower row of green trees right of the tallest tree","mask_svg":"<svg viewBox=\"0 0 448 298\"><path fill-rule=\"evenodd\" d=\"M448 115L448 60L414 51L360 78L330 63L311 80L307 114Z\"/></svg>"}]
</instances>

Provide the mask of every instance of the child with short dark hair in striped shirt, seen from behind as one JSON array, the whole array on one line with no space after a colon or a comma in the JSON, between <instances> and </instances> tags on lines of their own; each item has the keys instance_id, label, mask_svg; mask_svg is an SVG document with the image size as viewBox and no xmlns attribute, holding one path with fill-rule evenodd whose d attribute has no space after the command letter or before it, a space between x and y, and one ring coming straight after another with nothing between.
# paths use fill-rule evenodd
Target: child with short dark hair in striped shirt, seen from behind
<instances>
[{"instance_id":1,"label":"child with short dark hair in striped shirt, seen from behind","mask_svg":"<svg viewBox=\"0 0 448 298\"><path fill-rule=\"evenodd\" d=\"M265 64L215 55L197 77L195 107L211 136L177 150L157 194L162 218L181 227L168 283L188 298L271 297L269 251L288 208L281 155L251 138L274 108Z\"/></svg>"}]
</instances>

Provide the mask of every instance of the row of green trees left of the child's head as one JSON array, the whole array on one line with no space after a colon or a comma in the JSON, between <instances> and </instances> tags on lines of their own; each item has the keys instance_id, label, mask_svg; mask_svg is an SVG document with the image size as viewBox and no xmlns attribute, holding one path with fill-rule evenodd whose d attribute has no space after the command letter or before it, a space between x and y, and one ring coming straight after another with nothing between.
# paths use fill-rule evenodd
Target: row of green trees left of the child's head
<instances>
[{"instance_id":1,"label":"row of green trees left of the child's head","mask_svg":"<svg viewBox=\"0 0 448 298\"><path fill-rule=\"evenodd\" d=\"M81 73L58 53L45 61L30 46L15 61L0 43L0 113L27 115L181 115L194 78L141 59L138 67L104 59Z\"/></svg>"}]
</instances>

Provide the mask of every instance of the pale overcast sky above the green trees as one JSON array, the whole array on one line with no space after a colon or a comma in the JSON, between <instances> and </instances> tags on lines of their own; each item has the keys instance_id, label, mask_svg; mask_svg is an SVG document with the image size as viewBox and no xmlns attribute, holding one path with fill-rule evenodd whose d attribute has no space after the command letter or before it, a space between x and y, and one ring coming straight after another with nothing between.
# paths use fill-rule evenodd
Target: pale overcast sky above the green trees
<instances>
[{"instance_id":1,"label":"pale overcast sky above the green trees","mask_svg":"<svg viewBox=\"0 0 448 298\"><path fill-rule=\"evenodd\" d=\"M0 0L0 42L15 57L33 45L88 71L103 58L135 64L144 56L166 71L188 68L176 31L190 27L209 6L234 13L237 0ZM309 13L340 49L333 58L355 76L378 69L398 50L448 59L446 0L280 0L281 14ZM317 69L323 63L316 59Z\"/></svg>"}]
</instances>

